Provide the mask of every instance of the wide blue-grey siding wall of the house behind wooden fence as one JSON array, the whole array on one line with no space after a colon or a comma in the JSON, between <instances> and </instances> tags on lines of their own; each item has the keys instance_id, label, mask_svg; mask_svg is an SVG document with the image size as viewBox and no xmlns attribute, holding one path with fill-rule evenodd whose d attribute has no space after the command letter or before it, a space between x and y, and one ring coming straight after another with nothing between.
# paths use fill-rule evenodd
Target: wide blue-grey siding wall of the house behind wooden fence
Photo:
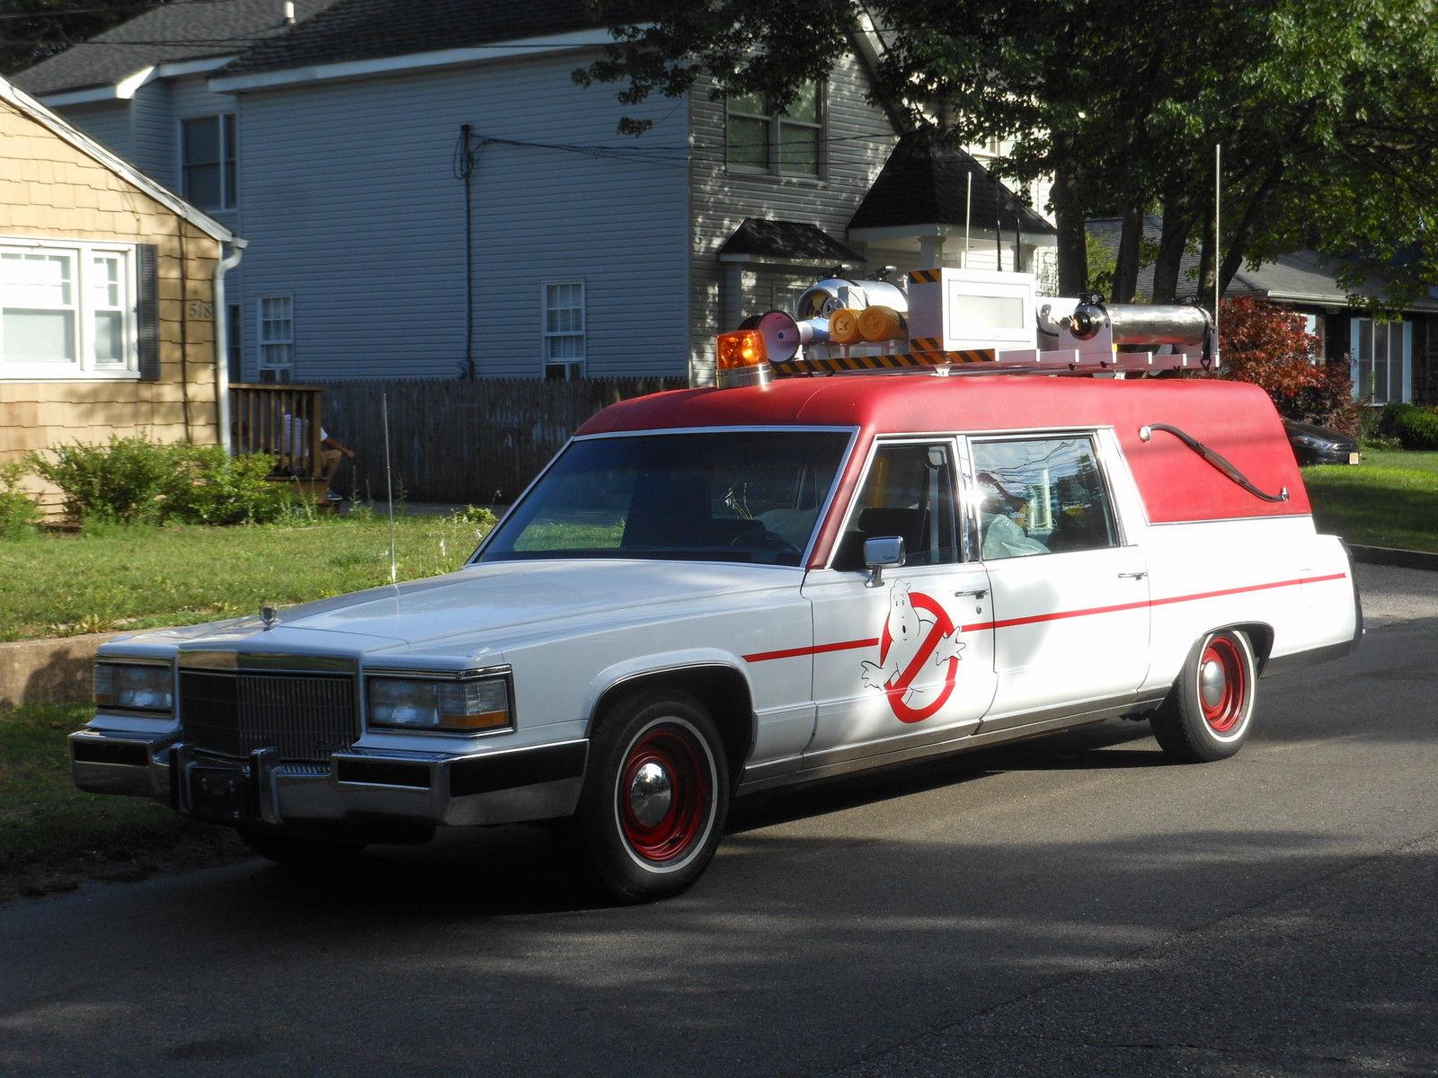
<instances>
[{"instance_id":1,"label":"wide blue-grey siding wall of the house behind wooden fence","mask_svg":"<svg viewBox=\"0 0 1438 1078\"><path fill-rule=\"evenodd\" d=\"M687 371L684 111L615 134L613 88L574 53L240 99L244 365L259 298L293 296L295 377L450 378L464 356L460 124L510 139L473 175L475 358L539 377L541 282L582 280L588 374ZM613 147L571 152L525 144Z\"/></svg>"}]
</instances>

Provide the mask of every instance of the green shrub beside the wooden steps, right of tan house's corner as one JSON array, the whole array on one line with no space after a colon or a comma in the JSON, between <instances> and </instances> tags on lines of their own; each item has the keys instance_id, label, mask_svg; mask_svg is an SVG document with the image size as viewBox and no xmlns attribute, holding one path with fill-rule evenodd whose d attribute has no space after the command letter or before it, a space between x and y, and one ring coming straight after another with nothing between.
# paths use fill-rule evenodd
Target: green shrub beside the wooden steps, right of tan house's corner
<instances>
[{"instance_id":1,"label":"green shrub beside the wooden steps, right of tan house's corner","mask_svg":"<svg viewBox=\"0 0 1438 1078\"><path fill-rule=\"evenodd\" d=\"M273 483L275 457L226 457L219 446L171 446L161 486L164 520L191 525L265 525L289 513L295 496Z\"/></svg>"}]
</instances>

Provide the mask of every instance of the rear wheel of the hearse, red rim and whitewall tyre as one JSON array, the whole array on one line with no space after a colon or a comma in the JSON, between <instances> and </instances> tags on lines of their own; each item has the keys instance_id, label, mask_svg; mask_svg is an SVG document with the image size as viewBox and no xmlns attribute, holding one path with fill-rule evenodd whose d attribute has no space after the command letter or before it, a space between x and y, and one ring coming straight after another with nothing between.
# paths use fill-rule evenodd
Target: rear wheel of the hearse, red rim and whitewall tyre
<instances>
[{"instance_id":1,"label":"rear wheel of the hearse, red rim and whitewall tyre","mask_svg":"<svg viewBox=\"0 0 1438 1078\"><path fill-rule=\"evenodd\" d=\"M1232 756L1248 736L1257 680L1248 637L1232 630L1209 632L1149 720L1159 747L1186 763Z\"/></svg>"}]
</instances>

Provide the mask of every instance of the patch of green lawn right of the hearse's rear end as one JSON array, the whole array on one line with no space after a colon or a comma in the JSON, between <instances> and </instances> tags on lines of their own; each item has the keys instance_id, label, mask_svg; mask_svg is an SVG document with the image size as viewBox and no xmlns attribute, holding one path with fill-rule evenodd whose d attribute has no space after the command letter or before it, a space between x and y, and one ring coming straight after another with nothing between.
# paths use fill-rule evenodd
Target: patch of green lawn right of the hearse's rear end
<instances>
[{"instance_id":1,"label":"patch of green lawn right of the hearse's rear end","mask_svg":"<svg viewBox=\"0 0 1438 1078\"><path fill-rule=\"evenodd\" d=\"M1365 450L1357 467L1303 469L1319 530L1438 552L1438 451Z\"/></svg>"}]
</instances>

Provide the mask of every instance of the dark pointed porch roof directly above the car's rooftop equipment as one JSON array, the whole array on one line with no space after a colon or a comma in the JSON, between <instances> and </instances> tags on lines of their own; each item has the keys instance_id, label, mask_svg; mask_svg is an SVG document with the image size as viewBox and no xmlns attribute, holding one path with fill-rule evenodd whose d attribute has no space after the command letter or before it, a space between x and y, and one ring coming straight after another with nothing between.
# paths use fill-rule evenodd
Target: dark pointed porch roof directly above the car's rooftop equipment
<instances>
[{"instance_id":1,"label":"dark pointed porch roof directly above the car's rooftop equipment","mask_svg":"<svg viewBox=\"0 0 1438 1078\"><path fill-rule=\"evenodd\" d=\"M972 217L969 177L974 177ZM933 129L912 131L899 139L883 171L858 206L850 231L897 226L948 224L1011 230L1015 221L1030 234L1053 236L1040 217L978 161Z\"/></svg>"}]
</instances>

